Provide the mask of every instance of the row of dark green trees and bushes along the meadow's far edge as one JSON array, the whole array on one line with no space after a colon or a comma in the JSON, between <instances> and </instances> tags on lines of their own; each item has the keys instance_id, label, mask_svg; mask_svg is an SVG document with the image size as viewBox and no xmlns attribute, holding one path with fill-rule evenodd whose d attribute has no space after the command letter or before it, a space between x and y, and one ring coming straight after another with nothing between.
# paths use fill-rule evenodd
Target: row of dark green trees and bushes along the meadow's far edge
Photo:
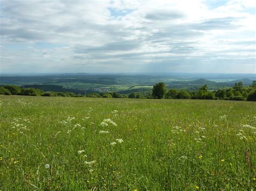
<instances>
[{"instance_id":1,"label":"row of dark green trees and bushes along the meadow's far edge","mask_svg":"<svg viewBox=\"0 0 256 191\"><path fill-rule=\"evenodd\" d=\"M157 99L200 99L200 100L235 100L235 101L256 101L256 80L251 86L244 87L242 82L235 83L232 88L208 90L207 84L199 90L187 91L186 89L167 89L164 82L156 83L152 93L137 92L131 94L110 93L90 93L86 95L72 92L43 91L36 88L24 88L13 85L0 86L2 95L28 95L28 96L63 96L63 97L103 97L103 98L157 98Z\"/></svg>"}]
</instances>

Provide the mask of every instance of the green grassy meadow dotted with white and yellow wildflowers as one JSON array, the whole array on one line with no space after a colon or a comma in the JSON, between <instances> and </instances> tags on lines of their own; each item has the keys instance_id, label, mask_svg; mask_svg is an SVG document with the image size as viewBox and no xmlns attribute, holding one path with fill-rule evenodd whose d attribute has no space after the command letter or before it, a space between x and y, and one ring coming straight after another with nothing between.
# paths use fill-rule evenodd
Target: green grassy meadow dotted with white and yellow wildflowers
<instances>
[{"instance_id":1,"label":"green grassy meadow dotted with white and yellow wildflowers","mask_svg":"<svg viewBox=\"0 0 256 191\"><path fill-rule=\"evenodd\" d=\"M255 102L0 100L0 190L256 189Z\"/></svg>"}]
</instances>

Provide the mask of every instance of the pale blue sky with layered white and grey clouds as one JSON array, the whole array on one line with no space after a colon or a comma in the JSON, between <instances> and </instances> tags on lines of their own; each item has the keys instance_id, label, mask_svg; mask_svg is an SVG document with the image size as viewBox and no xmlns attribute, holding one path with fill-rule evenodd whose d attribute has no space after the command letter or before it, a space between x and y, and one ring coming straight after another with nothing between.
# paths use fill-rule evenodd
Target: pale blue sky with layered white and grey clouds
<instances>
[{"instance_id":1,"label":"pale blue sky with layered white and grey clouds","mask_svg":"<svg viewBox=\"0 0 256 191\"><path fill-rule=\"evenodd\" d=\"M0 73L256 73L254 0L0 0Z\"/></svg>"}]
</instances>

